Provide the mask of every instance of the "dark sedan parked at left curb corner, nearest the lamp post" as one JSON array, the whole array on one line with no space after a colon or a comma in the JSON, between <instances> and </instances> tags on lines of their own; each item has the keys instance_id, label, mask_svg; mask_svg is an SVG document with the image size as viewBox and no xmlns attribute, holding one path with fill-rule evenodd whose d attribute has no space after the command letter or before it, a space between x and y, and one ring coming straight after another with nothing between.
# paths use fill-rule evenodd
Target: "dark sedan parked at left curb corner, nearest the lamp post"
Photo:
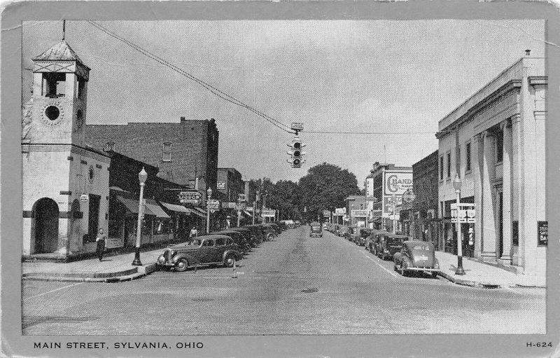
<instances>
[{"instance_id":1,"label":"dark sedan parked at left curb corner, nearest the lamp post","mask_svg":"<svg viewBox=\"0 0 560 358\"><path fill-rule=\"evenodd\" d=\"M233 267L236 260L243 255L232 238L226 235L199 236L192 242L171 245L158 257L159 267L174 268L177 272L189 267L223 263Z\"/></svg>"}]
</instances>

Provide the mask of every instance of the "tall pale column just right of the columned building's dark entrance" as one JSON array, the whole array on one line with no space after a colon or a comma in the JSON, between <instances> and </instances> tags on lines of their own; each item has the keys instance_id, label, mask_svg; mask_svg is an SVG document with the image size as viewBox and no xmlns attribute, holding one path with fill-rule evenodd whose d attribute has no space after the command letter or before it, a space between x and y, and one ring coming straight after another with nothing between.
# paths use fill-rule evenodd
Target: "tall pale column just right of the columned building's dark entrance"
<instances>
[{"instance_id":1,"label":"tall pale column just right of the columned building's dark entrance","mask_svg":"<svg viewBox=\"0 0 560 358\"><path fill-rule=\"evenodd\" d=\"M500 260L505 265L512 263L512 125L510 120L500 123L503 130L503 205L502 205L502 232L503 252Z\"/></svg>"}]
</instances>

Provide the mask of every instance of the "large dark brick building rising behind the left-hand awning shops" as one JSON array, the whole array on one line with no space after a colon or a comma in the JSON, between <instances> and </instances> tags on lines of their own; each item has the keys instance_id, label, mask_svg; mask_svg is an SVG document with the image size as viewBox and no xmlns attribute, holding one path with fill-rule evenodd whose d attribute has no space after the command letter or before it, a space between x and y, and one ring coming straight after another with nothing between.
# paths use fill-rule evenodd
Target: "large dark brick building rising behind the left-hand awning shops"
<instances>
[{"instance_id":1,"label":"large dark brick building rising behind the left-hand awning shops","mask_svg":"<svg viewBox=\"0 0 560 358\"><path fill-rule=\"evenodd\" d=\"M214 119L179 123L86 125L87 143L159 168L158 176L200 191L216 190L218 130ZM204 195L205 196L205 195Z\"/></svg>"}]
</instances>

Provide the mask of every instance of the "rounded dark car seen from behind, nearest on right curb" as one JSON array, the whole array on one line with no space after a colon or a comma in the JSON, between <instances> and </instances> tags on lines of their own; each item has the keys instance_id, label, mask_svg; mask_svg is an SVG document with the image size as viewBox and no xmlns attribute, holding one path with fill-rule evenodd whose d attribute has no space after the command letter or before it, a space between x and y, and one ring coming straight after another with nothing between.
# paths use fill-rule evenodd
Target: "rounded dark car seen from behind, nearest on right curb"
<instances>
[{"instance_id":1,"label":"rounded dark car seen from behind, nearest on right curb","mask_svg":"<svg viewBox=\"0 0 560 358\"><path fill-rule=\"evenodd\" d=\"M393 256L395 271L405 276L412 272L425 272L436 276L440 271L440 263L435 258L435 250L431 242L408 240L402 243L402 249Z\"/></svg>"}]
</instances>

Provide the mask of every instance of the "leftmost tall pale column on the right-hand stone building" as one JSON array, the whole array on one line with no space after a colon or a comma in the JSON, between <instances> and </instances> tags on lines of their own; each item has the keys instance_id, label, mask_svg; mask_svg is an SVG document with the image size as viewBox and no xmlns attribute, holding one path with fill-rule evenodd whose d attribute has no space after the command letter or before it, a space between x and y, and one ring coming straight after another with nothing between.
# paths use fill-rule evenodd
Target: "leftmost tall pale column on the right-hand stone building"
<instances>
[{"instance_id":1,"label":"leftmost tall pale column on the right-hand stone building","mask_svg":"<svg viewBox=\"0 0 560 358\"><path fill-rule=\"evenodd\" d=\"M482 134L472 138L472 178L475 184L475 257L480 259L482 253L482 158L484 146Z\"/></svg>"}]
</instances>

